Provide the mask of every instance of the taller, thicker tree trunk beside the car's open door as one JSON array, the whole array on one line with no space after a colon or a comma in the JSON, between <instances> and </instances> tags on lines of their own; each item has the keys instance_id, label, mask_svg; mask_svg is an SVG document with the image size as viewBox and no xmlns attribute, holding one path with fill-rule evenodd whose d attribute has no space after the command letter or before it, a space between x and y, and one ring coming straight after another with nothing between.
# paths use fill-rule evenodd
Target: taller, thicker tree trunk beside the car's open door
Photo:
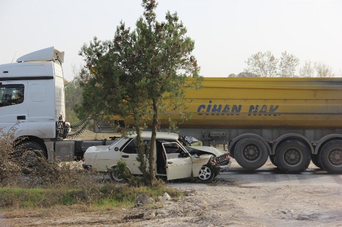
<instances>
[{"instance_id":1,"label":"taller, thicker tree trunk beside the car's open door","mask_svg":"<svg viewBox=\"0 0 342 227\"><path fill-rule=\"evenodd\" d=\"M157 127L158 127L158 101L153 99L153 121L152 121L152 136L151 136L151 146L150 146L150 184L154 185L156 182L156 172L155 172L155 144L157 137Z\"/></svg>"}]
</instances>

